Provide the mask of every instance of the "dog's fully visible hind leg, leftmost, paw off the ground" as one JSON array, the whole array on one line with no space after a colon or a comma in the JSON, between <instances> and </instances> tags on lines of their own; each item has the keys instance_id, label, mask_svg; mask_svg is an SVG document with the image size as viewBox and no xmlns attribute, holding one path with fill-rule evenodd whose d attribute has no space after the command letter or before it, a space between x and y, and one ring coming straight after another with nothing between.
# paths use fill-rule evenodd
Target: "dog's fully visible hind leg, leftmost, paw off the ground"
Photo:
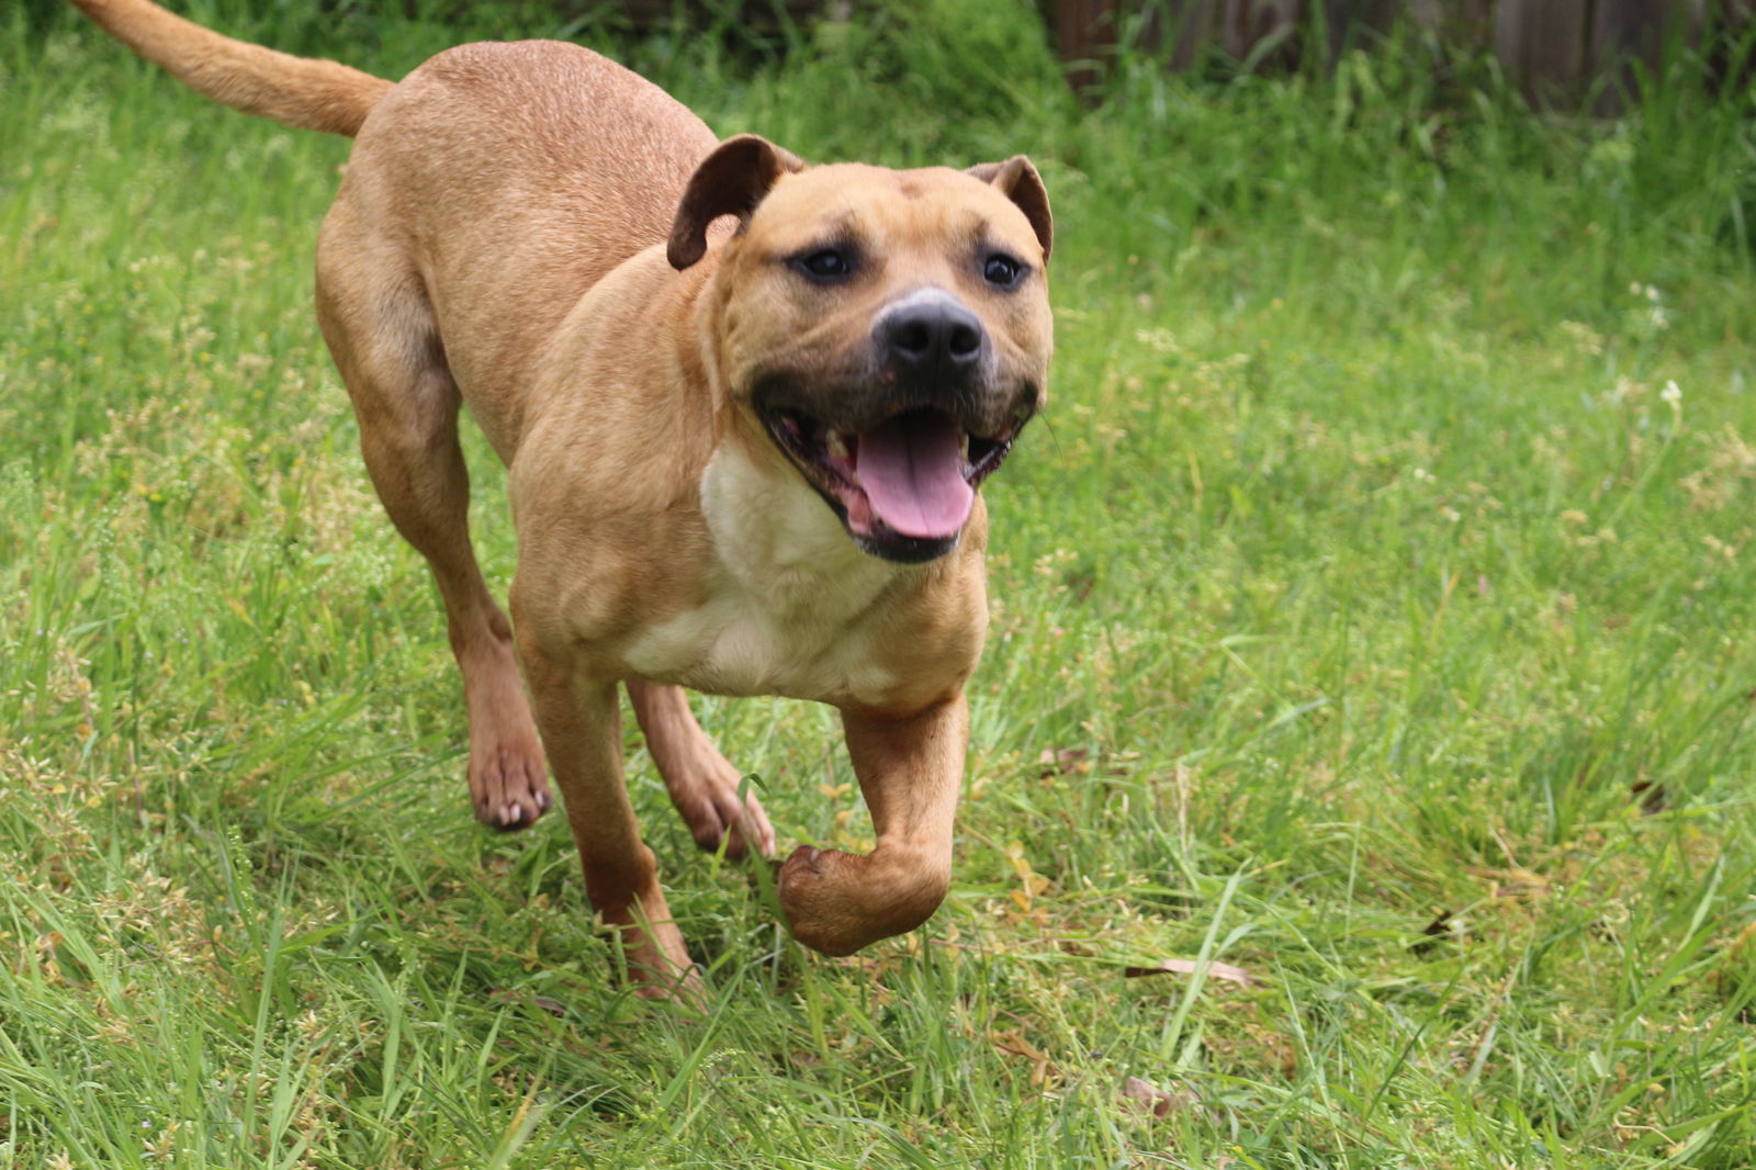
<instances>
[{"instance_id":1,"label":"dog's fully visible hind leg, leftmost, paw off the ground","mask_svg":"<svg viewBox=\"0 0 1756 1170\"><path fill-rule=\"evenodd\" d=\"M332 235L325 230L325 244ZM548 769L518 678L513 629L469 543L469 471L458 446L460 395L420 279L362 264L318 262L318 318L360 420L360 448L397 531L432 567L469 708L469 794L476 819L532 824L548 806ZM369 242L365 242L369 246ZM327 279L328 278L328 279Z\"/></svg>"}]
</instances>

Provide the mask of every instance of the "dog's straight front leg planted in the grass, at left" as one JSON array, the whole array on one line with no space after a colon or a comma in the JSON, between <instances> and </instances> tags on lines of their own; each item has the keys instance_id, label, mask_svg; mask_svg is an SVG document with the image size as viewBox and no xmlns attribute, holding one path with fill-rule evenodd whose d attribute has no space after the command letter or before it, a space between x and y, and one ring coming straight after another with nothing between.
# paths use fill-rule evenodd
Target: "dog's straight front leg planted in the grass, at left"
<instances>
[{"instance_id":1,"label":"dog's straight front leg planted in the grass, at left","mask_svg":"<svg viewBox=\"0 0 1756 1170\"><path fill-rule=\"evenodd\" d=\"M592 678L544 654L520 629L525 680L543 747L560 787L572 840L585 868L585 891L608 926L620 928L637 994L694 994L697 977L671 921L653 852L641 841L622 782L622 729L615 680Z\"/></svg>"}]
</instances>

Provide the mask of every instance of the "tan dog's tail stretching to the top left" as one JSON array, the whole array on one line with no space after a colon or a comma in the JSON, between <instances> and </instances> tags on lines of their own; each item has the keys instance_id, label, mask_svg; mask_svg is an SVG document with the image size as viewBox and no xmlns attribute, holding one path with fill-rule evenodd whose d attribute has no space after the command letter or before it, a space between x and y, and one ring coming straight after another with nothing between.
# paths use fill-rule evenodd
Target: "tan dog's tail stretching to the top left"
<instances>
[{"instance_id":1,"label":"tan dog's tail stretching to the top left","mask_svg":"<svg viewBox=\"0 0 1756 1170\"><path fill-rule=\"evenodd\" d=\"M392 83L335 61L318 61L232 40L151 0L72 0L98 28L221 105L258 118L353 137Z\"/></svg>"}]
</instances>

